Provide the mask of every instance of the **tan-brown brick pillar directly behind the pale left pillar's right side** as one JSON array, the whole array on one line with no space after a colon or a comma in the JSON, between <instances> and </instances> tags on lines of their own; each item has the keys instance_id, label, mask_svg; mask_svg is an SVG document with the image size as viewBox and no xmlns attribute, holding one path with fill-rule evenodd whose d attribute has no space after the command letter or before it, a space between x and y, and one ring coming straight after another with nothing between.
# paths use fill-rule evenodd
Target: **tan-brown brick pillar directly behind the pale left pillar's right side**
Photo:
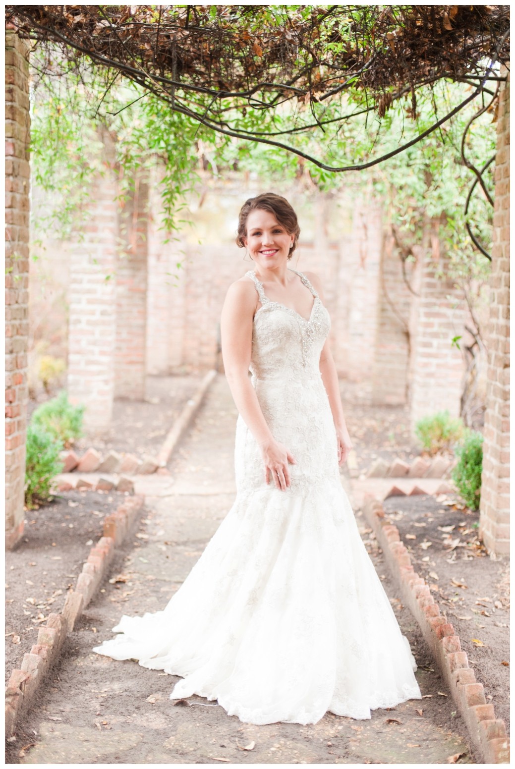
<instances>
[{"instance_id":1,"label":"tan-brown brick pillar directly behind the pale left pillar's right side","mask_svg":"<svg viewBox=\"0 0 515 769\"><path fill-rule=\"evenodd\" d=\"M148 181L138 175L134 191L119 211L115 398L145 398L148 203Z\"/></svg>"}]
</instances>

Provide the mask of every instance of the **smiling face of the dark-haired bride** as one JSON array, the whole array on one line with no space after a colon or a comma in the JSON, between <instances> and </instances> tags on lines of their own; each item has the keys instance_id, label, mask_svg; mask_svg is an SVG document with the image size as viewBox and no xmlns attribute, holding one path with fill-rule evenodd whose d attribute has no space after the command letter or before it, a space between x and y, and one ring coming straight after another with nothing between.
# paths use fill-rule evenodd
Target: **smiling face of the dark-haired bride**
<instances>
[{"instance_id":1,"label":"smiling face of the dark-haired bride","mask_svg":"<svg viewBox=\"0 0 515 769\"><path fill-rule=\"evenodd\" d=\"M275 215L262 208L250 211L247 217L247 234L243 241L249 254L259 267L273 269L288 258L295 235L279 225Z\"/></svg>"}]
</instances>

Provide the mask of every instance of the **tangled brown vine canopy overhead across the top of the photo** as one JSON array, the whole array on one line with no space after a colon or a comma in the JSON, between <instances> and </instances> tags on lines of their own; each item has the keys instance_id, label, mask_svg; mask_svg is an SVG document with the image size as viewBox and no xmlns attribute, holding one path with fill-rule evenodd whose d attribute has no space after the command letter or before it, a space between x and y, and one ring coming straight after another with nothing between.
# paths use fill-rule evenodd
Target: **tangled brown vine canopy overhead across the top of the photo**
<instances>
[{"instance_id":1,"label":"tangled brown vine canopy overhead across the top of the photo","mask_svg":"<svg viewBox=\"0 0 515 769\"><path fill-rule=\"evenodd\" d=\"M420 141L478 95L509 59L508 5L6 5L7 22L123 75L174 112L221 134L286 148L327 171L359 170ZM381 158L346 166L306 155L296 137L383 118L442 80L472 92ZM498 85L498 84L497 84ZM470 90L470 89L469 89ZM283 106L283 105L286 105ZM288 112L289 105L289 112ZM288 114L288 122L279 120Z\"/></svg>"}]
</instances>

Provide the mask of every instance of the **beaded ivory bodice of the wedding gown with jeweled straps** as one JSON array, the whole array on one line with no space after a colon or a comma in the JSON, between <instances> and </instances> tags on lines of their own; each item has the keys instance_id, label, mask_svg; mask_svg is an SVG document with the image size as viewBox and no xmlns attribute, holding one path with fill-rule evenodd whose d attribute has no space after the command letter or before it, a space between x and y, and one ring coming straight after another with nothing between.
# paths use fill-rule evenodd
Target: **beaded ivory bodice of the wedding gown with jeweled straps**
<instances>
[{"instance_id":1,"label":"beaded ivory bodice of the wedding gown with jeweled straps","mask_svg":"<svg viewBox=\"0 0 515 769\"><path fill-rule=\"evenodd\" d=\"M313 285L302 272L299 275L313 294L309 318L278 301L270 300L253 270L246 273L256 285L261 307L254 315L250 371L255 379L313 376L319 368L320 352L329 333L329 313ZM285 381L288 381L286 379Z\"/></svg>"}]
</instances>

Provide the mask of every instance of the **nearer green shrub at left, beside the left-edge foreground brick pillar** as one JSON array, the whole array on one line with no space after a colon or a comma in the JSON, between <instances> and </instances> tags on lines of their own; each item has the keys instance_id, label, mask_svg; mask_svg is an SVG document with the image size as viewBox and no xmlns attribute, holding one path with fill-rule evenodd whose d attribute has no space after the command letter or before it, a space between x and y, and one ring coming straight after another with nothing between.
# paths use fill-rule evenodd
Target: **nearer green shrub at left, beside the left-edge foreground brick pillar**
<instances>
[{"instance_id":1,"label":"nearer green shrub at left, beside the left-edge foreground brick pillar","mask_svg":"<svg viewBox=\"0 0 515 769\"><path fill-rule=\"evenodd\" d=\"M35 501L48 500L52 478L64 467L59 459L62 442L40 425L29 424L26 445L25 504L33 508Z\"/></svg>"}]
</instances>

